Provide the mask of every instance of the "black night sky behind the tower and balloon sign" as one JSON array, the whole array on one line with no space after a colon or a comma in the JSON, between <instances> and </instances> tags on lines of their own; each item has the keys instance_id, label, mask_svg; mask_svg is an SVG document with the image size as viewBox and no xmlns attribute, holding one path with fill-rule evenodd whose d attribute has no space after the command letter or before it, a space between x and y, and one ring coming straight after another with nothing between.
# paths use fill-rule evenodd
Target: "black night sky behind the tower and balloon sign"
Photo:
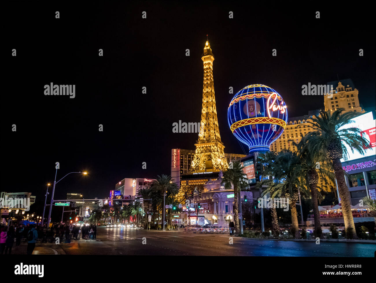
<instances>
[{"instance_id":1,"label":"black night sky behind the tower and balloon sign","mask_svg":"<svg viewBox=\"0 0 376 283\"><path fill-rule=\"evenodd\" d=\"M374 107L375 38L367 22L373 15L353 6L251 3L7 3L2 191L32 192L32 210L41 211L57 161L57 180L72 171L89 175L64 178L55 199L67 192L103 198L123 178L170 175L171 149L195 148L197 134L175 134L172 124L200 121L206 34L226 153L244 153L227 125L227 108L249 84L278 91L289 117L323 107L322 96L302 96L302 85L326 84L337 75L352 79L361 104ZM75 84L76 97L45 96L51 82Z\"/></svg>"}]
</instances>

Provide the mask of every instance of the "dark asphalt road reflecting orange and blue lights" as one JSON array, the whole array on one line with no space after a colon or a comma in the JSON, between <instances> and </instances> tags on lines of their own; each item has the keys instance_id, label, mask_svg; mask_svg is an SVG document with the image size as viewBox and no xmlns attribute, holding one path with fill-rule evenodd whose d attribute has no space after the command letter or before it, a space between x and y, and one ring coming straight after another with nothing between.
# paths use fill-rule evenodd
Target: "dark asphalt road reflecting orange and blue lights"
<instances>
[{"instance_id":1,"label":"dark asphalt road reflecting orange and blue lights","mask_svg":"<svg viewBox=\"0 0 376 283\"><path fill-rule=\"evenodd\" d=\"M143 238L146 238L145 240ZM98 227L101 241L72 241L62 243L65 254L122 254L169 256L321 256L374 257L376 244L346 242L315 242L254 240L227 234L193 232L163 232L134 228Z\"/></svg>"}]
</instances>

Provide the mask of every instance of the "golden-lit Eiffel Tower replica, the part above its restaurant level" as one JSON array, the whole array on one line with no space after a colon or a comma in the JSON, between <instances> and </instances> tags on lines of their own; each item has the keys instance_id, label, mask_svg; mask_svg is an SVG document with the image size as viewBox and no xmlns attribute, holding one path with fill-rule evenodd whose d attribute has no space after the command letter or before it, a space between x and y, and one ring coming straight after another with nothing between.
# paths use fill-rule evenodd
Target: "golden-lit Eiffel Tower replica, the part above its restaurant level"
<instances>
[{"instance_id":1,"label":"golden-lit Eiffel Tower replica, the part above its restaurant level","mask_svg":"<svg viewBox=\"0 0 376 283\"><path fill-rule=\"evenodd\" d=\"M204 64L204 83L202 90L201 131L196 143L196 152L190 172L225 171L228 168L224 156L224 145L218 128L217 108L215 106L213 61L214 55L206 40L201 57Z\"/></svg>"}]
</instances>

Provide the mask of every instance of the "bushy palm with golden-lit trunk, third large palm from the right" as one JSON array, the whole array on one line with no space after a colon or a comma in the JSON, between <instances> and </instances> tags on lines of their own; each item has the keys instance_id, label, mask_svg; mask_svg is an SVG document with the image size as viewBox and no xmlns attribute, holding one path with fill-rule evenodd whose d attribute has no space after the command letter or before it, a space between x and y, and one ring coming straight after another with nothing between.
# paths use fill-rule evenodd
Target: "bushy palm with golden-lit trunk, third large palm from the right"
<instances>
[{"instance_id":1,"label":"bushy palm with golden-lit trunk, third large palm from the right","mask_svg":"<svg viewBox=\"0 0 376 283\"><path fill-rule=\"evenodd\" d=\"M274 164L267 169L274 179L264 179L256 183L256 187L266 187L262 196L270 193L270 198L286 197L288 198L292 232L295 238L299 237L299 223L296 211L296 202L298 200L298 187L306 194L305 184L300 181L301 170L300 159L296 152L283 150L274 157ZM262 160L260 160L262 162Z\"/></svg>"}]
</instances>

